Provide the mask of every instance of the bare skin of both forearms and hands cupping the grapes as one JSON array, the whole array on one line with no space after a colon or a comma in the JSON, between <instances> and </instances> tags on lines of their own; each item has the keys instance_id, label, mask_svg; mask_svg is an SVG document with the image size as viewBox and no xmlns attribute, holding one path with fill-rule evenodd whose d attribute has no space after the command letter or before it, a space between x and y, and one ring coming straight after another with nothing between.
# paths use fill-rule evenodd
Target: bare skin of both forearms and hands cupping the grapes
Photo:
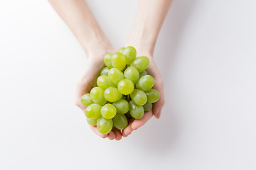
<instances>
[{"instance_id":1,"label":"bare skin of both forearms and hands cupping the grapes","mask_svg":"<svg viewBox=\"0 0 256 170\"><path fill-rule=\"evenodd\" d=\"M116 52L117 50L112 47L84 0L48 1L78 38L87 56L87 62L78 80L75 94L75 105L85 112L85 107L80 102L81 96L89 93L92 87L96 86L97 77L104 67L103 56L107 52ZM170 6L171 0L140 0L126 43L126 46L130 45L137 49L137 56L149 57L150 64L146 71L154 77L154 89L160 93L159 101L154 103L152 110L144 113L141 119L129 120L129 125L122 131L114 128L109 134L102 135L95 126L90 125L92 131L100 137L121 140L122 137L127 137L132 131L142 127L153 115L160 118L161 109L164 106L164 84L154 62L153 54L159 31Z\"/></svg>"}]
</instances>

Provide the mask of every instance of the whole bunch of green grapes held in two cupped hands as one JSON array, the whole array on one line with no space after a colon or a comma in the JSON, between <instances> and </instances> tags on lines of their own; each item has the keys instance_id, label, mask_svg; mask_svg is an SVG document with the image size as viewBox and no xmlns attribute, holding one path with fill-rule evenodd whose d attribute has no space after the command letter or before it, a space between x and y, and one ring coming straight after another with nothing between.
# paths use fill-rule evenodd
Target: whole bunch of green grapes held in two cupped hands
<instances>
[{"instance_id":1,"label":"whole bunch of green grapes held in two cupped hands","mask_svg":"<svg viewBox=\"0 0 256 170\"><path fill-rule=\"evenodd\" d=\"M107 67L100 72L97 86L84 94L81 103L86 107L87 123L97 126L102 134L113 127L123 130L131 118L140 119L159 100L159 91L152 89L154 79L147 74L149 58L136 57L134 47L122 47L107 53Z\"/></svg>"}]
</instances>

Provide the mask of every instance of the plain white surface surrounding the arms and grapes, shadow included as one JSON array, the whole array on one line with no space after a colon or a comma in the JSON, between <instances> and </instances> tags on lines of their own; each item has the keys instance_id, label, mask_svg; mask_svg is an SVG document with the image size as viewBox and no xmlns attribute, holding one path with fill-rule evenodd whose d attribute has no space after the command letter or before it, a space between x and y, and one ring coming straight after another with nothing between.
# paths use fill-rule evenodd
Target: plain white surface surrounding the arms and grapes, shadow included
<instances>
[{"instance_id":1,"label":"plain white surface surrounding the arms and grapes, shadow included","mask_svg":"<svg viewBox=\"0 0 256 170\"><path fill-rule=\"evenodd\" d=\"M124 46L137 1L87 1ZM154 57L161 119L117 142L74 105L86 57L48 1L0 2L0 169L256 169L256 1L176 0Z\"/></svg>"}]
</instances>

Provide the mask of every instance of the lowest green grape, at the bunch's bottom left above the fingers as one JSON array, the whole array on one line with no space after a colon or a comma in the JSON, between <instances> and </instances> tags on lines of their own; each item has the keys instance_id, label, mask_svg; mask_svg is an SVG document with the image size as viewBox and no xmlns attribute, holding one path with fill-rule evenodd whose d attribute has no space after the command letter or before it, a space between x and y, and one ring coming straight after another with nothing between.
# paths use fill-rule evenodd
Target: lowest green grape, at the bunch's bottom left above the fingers
<instances>
[{"instance_id":1,"label":"lowest green grape, at the bunch's bottom left above the fingers","mask_svg":"<svg viewBox=\"0 0 256 170\"><path fill-rule=\"evenodd\" d=\"M97 130L102 134L109 133L113 128L112 119L105 119L102 116L97 119Z\"/></svg>"}]
</instances>

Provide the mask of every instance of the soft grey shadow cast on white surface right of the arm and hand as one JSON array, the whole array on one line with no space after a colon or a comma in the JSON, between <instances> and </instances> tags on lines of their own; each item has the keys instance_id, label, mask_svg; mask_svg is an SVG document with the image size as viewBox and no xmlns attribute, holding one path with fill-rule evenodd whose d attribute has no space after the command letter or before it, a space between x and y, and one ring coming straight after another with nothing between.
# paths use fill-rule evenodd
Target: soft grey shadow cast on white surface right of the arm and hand
<instances>
[{"instance_id":1,"label":"soft grey shadow cast on white surface right of the arm and hand","mask_svg":"<svg viewBox=\"0 0 256 170\"><path fill-rule=\"evenodd\" d=\"M142 149L142 152L164 154L178 145L178 138L182 130L181 125L178 124L178 108L181 106L178 106L180 104L176 102L179 92L173 85L176 49L179 47L183 28L186 27L195 3L196 0L174 1L159 35L154 59L164 79L166 103L159 120L151 118L146 125L127 137L133 147ZM182 98L178 100L181 101Z\"/></svg>"}]
</instances>

